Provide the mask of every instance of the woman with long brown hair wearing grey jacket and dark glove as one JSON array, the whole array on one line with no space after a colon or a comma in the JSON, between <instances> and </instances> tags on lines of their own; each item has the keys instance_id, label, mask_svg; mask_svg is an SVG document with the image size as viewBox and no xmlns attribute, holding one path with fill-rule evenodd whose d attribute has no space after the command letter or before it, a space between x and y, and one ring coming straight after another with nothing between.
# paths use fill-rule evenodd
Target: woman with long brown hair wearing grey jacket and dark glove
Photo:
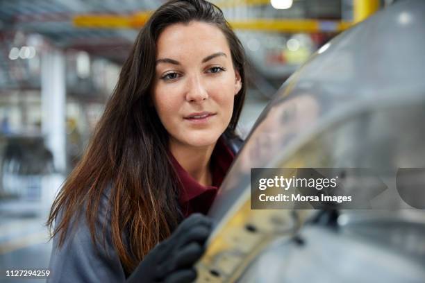
<instances>
[{"instance_id":1,"label":"woman with long brown hair wearing grey jacket and dark glove","mask_svg":"<svg viewBox=\"0 0 425 283\"><path fill-rule=\"evenodd\" d=\"M194 280L211 230L197 212L233 161L244 95L244 51L222 11L203 0L158 8L53 203L49 280Z\"/></svg>"}]
</instances>

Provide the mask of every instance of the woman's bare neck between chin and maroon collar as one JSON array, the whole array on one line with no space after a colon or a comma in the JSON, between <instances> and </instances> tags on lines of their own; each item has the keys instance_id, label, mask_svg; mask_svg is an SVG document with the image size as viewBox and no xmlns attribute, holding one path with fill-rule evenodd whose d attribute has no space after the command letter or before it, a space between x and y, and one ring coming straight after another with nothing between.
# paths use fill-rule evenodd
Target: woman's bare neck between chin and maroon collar
<instances>
[{"instance_id":1,"label":"woman's bare neck between chin and maroon collar","mask_svg":"<svg viewBox=\"0 0 425 283\"><path fill-rule=\"evenodd\" d=\"M169 143L169 150L178 164L180 164L189 175L204 186L212 185L210 172L210 159L215 144L209 146L188 146L178 142Z\"/></svg>"}]
</instances>

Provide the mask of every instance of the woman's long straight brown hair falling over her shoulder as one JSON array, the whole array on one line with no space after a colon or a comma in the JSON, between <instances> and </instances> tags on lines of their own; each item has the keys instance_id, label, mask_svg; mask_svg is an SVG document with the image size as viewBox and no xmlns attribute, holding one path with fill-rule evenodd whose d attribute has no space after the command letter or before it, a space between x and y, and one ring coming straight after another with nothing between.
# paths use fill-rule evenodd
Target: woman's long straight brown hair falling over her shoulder
<instances>
[{"instance_id":1,"label":"woman's long straight brown hair falling over her shoulder","mask_svg":"<svg viewBox=\"0 0 425 283\"><path fill-rule=\"evenodd\" d=\"M84 210L92 241L99 240L99 203L108 186L108 225L114 248L129 273L182 220L178 205L181 184L176 182L178 178L167 155L168 134L152 106L151 86L158 36L169 25L191 21L214 24L228 41L233 65L242 78L242 89L235 96L233 115L226 129L226 135L235 135L246 91L242 44L222 10L212 3L168 1L153 13L138 34L85 154L51 207L49 228L61 216L51 234L60 236L59 247L69 225ZM128 246L123 231L127 232Z\"/></svg>"}]
</instances>

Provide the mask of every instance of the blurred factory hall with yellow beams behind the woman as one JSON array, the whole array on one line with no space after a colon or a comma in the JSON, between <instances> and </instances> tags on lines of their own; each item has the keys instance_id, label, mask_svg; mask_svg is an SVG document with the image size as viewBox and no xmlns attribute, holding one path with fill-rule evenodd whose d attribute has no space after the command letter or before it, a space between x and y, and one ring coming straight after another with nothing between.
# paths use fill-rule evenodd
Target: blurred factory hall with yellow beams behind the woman
<instances>
[{"instance_id":1,"label":"blurred factory hall with yellow beams behind the woman","mask_svg":"<svg viewBox=\"0 0 425 283\"><path fill-rule=\"evenodd\" d=\"M3 277L5 269L47 268L51 201L88 144L138 30L163 2L0 1L0 282L19 281ZM310 55L393 2L213 1L249 60L241 135Z\"/></svg>"}]
</instances>

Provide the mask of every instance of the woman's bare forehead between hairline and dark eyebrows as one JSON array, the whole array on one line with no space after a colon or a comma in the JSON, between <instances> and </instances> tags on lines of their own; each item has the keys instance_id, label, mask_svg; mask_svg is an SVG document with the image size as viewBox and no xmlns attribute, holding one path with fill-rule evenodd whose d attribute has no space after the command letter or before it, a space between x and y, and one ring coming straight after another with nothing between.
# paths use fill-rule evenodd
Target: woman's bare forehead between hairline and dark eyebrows
<instances>
[{"instance_id":1,"label":"woman's bare forehead between hairline and dark eyebrows","mask_svg":"<svg viewBox=\"0 0 425 283\"><path fill-rule=\"evenodd\" d=\"M214 24L190 22L172 24L160 33L156 42L157 58L207 56L222 51L230 58L226 37Z\"/></svg>"}]
</instances>

